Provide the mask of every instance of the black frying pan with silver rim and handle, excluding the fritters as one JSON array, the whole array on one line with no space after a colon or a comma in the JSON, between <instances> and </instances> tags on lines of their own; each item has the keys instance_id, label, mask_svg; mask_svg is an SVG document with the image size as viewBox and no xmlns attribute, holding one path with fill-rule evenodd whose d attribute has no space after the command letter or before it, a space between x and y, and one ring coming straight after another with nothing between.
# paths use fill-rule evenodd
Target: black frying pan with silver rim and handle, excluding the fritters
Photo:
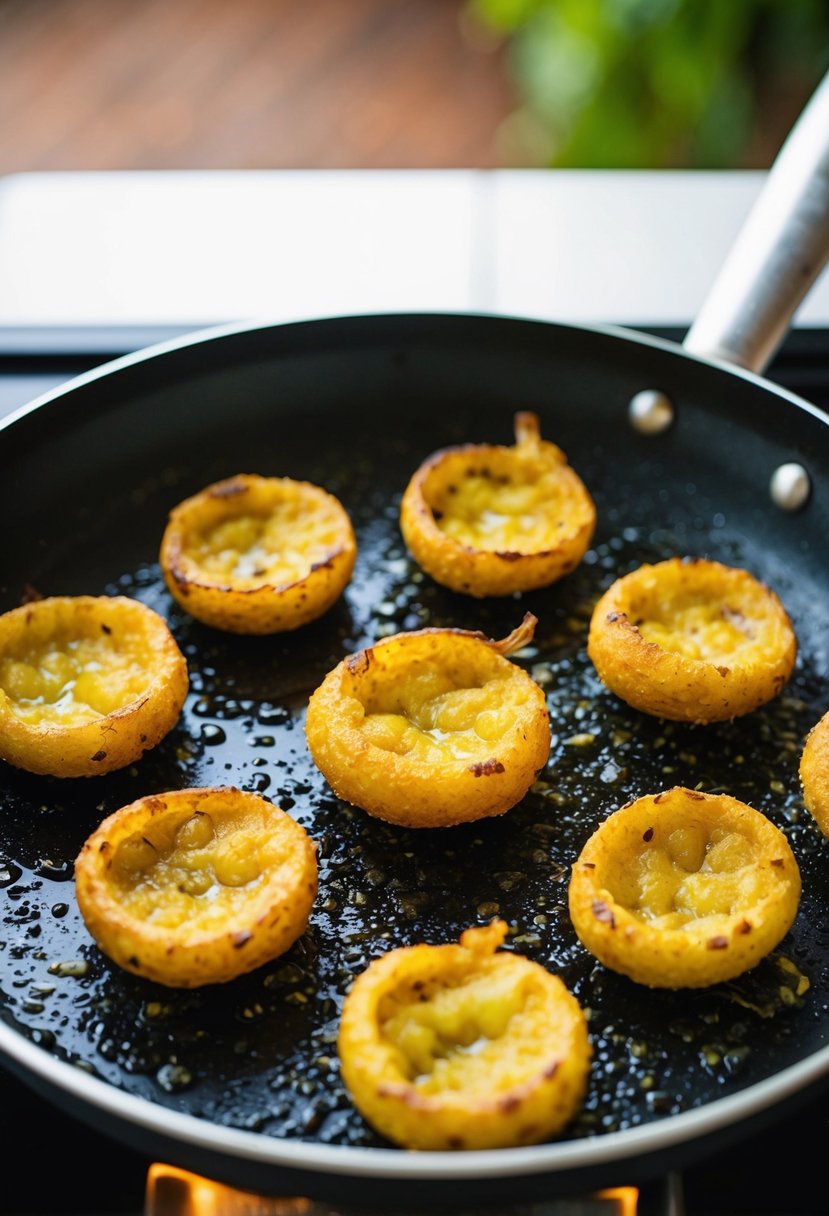
<instances>
[{"instance_id":1,"label":"black frying pan with silver rim and handle, excluding the fritters","mask_svg":"<svg viewBox=\"0 0 829 1216\"><path fill-rule=\"evenodd\" d=\"M829 420L757 371L829 243L828 90L786 141L684 348L491 315L230 326L107 364L6 422L0 607L32 591L134 595L167 617L191 672L179 725L130 769L61 781L2 767L0 1051L38 1093L105 1137L219 1181L385 1210L644 1181L820 1094L829 874L797 761L829 708ZM540 415L588 485L592 547L543 591L457 596L406 554L400 495L435 449L509 443L520 409ZM225 636L164 590L157 553L168 511L237 472L326 485L353 516L353 582L295 634ZM745 719L649 719L604 689L586 659L600 592L675 553L751 569L793 619L794 676ZM424 624L502 637L525 610L538 627L517 662L546 688L553 744L519 806L418 832L333 796L308 754L303 715L344 654ZM259 790L306 826L320 895L288 955L232 984L174 991L97 951L77 910L73 858L118 806L197 784ZM604 970L566 916L569 868L596 826L672 784L726 789L763 811L786 832L803 877L780 947L748 975L690 993ZM495 914L511 924L512 948L559 973L588 1010L583 1111L556 1142L530 1148L394 1148L343 1090L343 995L393 946L455 940Z\"/></svg>"}]
</instances>

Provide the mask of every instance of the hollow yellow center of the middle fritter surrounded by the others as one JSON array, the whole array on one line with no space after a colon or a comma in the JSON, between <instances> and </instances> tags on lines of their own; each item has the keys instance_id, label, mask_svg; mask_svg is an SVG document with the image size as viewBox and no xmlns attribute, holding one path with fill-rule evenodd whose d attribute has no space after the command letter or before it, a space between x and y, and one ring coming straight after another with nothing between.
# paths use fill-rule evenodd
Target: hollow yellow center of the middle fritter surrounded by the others
<instances>
[{"instance_id":1,"label":"hollow yellow center of the middle fritter surrounded by the others","mask_svg":"<svg viewBox=\"0 0 829 1216\"><path fill-rule=\"evenodd\" d=\"M410 672L374 688L361 728L374 747L399 755L490 755L492 744L514 727L526 697L526 688L509 676L456 687L440 671Z\"/></svg>"}]
</instances>

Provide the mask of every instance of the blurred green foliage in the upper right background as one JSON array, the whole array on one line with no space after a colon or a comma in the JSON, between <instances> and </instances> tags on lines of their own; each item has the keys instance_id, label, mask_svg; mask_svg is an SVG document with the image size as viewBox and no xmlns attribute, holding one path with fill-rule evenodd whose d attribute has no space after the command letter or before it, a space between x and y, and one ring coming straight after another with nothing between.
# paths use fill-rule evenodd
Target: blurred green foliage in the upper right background
<instances>
[{"instance_id":1,"label":"blurred green foliage in the upper right background","mask_svg":"<svg viewBox=\"0 0 829 1216\"><path fill-rule=\"evenodd\" d=\"M468 13L506 44L508 129L531 134L532 163L771 159L777 125L829 69L829 0L468 0Z\"/></svg>"}]
</instances>

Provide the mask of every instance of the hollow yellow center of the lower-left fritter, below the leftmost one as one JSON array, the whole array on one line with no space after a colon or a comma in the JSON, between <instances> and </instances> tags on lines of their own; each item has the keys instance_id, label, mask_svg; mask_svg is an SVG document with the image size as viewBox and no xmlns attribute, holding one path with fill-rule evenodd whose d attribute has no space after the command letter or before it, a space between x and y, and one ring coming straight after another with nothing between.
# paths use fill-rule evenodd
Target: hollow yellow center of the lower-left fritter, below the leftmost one
<instances>
[{"instance_id":1,"label":"hollow yellow center of the lower-left fritter, below the leftmost one","mask_svg":"<svg viewBox=\"0 0 829 1216\"><path fill-rule=\"evenodd\" d=\"M286 858L278 826L255 812L156 818L117 846L109 878L124 910L159 928L220 928Z\"/></svg>"}]
</instances>

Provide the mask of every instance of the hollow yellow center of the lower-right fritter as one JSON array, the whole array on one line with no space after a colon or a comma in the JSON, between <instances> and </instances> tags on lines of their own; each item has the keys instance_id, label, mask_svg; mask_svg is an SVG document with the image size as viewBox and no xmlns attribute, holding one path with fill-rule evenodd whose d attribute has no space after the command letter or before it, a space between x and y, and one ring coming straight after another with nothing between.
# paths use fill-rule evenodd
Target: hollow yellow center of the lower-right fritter
<instances>
[{"instance_id":1,"label":"hollow yellow center of the lower-right fritter","mask_svg":"<svg viewBox=\"0 0 829 1216\"><path fill-rule=\"evenodd\" d=\"M767 894L768 873L756 861L756 849L739 832L676 827L614 876L614 899L660 929L735 916Z\"/></svg>"}]
</instances>

